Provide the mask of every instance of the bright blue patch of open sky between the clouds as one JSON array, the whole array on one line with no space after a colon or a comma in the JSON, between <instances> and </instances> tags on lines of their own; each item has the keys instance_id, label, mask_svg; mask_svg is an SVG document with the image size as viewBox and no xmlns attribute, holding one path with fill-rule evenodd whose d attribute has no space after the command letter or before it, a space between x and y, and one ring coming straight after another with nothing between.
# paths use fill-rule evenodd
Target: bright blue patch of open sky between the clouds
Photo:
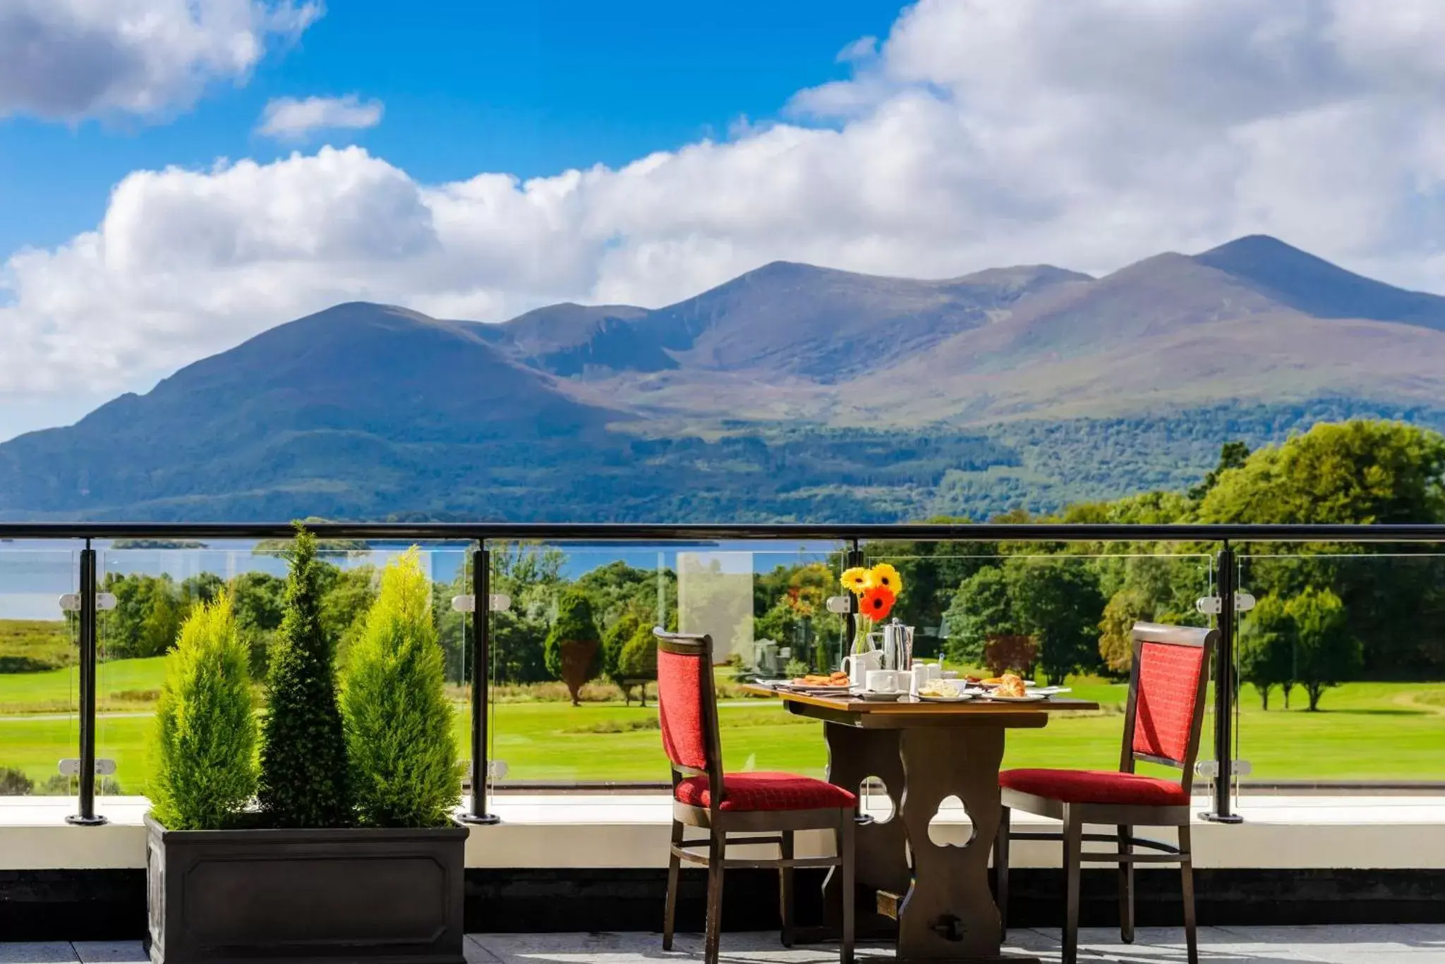
<instances>
[{"instance_id":1,"label":"bright blue patch of open sky between the clouds","mask_svg":"<svg viewBox=\"0 0 1445 964\"><path fill-rule=\"evenodd\" d=\"M264 162L329 140L363 145L423 182L526 178L725 137L740 117L773 117L795 91L845 77L837 53L884 35L902 6L486 0L399 16L396 3L332 0L244 85L214 82L189 111L0 120L0 253L92 228L111 186L136 169ZM351 92L383 101L384 121L340 140L254 133L270 98Z\"/></svg>"}]
</instances>

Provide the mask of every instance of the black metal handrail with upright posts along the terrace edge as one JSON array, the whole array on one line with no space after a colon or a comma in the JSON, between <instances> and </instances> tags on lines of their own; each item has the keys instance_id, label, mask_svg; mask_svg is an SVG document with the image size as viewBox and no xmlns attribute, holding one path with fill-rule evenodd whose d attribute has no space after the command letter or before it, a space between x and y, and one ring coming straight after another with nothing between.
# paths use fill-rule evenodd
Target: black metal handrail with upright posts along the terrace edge
<instances>
[{"instance_id":1,"label":"black metal handrail with upright posts along the terrace edge","mask_svg":"<svg viewBox=\"0 0 1445 964\"><path fill-rule=\"evenodd\" d=\"M470 542L474 571L481 574L473 633L473 730L471 808L462 817L471 822L496 822L487 811L487 720L490 678L486 574L487 545L494 542L715 542L715 541L818 541L845 545L850 565L861 562L861 542L1176 542L1220 545L1218 616L1221 643L1217 653L1215 685L1215 782L1214 811L1207 819L1237 822L1228 793L1233 776L1233 626L1234 548L1231 543L1445 543L1445 525L1123 525L1123 523L608 523L608 522L316 522L306 526L319 539ZM84 561L94 567L92 541L116 539L285 539L293 535L285 522L0 522L0 539L84 541L79 610L81 691L94 692L97 581L85 578ZM854 613L847 614L848 633ZM87 689L88 687L88 689ZM95 704L82 700L79 721L79 812L74 822L104 822L95 815ZM87 778L88 775L88 778Z\"/></svg>"}]
</instances>

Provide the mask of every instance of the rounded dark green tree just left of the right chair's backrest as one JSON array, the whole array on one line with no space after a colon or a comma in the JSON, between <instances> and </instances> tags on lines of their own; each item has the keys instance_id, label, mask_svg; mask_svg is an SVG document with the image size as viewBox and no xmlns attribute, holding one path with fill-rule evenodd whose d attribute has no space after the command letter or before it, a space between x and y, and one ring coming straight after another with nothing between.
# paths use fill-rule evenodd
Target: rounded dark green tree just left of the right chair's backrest
<instances>
[{"instance_id":1,"label":"rounded dark green tree just left of the right chair's backrest","mask_svg":"<svg viewBox=\"0 0 1445 964\"><path fill-rule=\"evenodd\" d=\"M1019 627L1039 645L1039 666L1051 684L1098 665L1104 595L1090 567L1069 559L1013 558L1007 577Z\"/></svg>"}]
</instances>

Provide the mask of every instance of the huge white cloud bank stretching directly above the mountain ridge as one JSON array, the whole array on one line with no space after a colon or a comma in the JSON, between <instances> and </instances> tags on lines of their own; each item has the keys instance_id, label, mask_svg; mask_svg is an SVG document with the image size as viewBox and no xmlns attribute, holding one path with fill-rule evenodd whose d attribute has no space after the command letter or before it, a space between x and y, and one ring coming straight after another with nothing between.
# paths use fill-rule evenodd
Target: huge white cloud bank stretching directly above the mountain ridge
<instances>
[{"instance_id":1,"label":"huge white cloud bank stretching directly above the mountain ridge","mask_svg":"<svg viewBox=\"0 0 1445 964\"><path fill-rule=\"evenodd\" d=\"M345 299L660 305L773 259L1103 272L1264 231L1445 291L1445 17L1361 9L923 0L798 95L825 124L530 181L419 184L358 147L136 172L94 231L0 270L0 392L146 387Z\"/></svg>"}]
</instances>

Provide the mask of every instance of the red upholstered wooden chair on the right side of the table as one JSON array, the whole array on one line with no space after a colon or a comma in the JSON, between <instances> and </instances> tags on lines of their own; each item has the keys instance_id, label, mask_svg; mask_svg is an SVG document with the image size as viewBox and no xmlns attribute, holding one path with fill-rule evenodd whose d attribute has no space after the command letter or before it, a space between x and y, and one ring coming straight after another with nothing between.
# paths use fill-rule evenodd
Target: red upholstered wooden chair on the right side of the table
<instances>
[{"instance_id":1,"label":"red upholstered wooden chair on the right side of the table","mask_svg":"<svg viewBox=\"0 0 1445 964\"><path fill-rule=\"evenodd\" d=\"M1009 921L1009 841L1062 840L1065 877L1064 964L1078 957L1079 864L1118 864L1118 918L1124 941L1134 939L1134 864L1178 863L1183 874L1183 929L1189 964L1198 964L1194 922L1194 872L1189 853L1189 783L1204 724L1209 656L1215 630L1134 624L1134 665L1124 711L1124 747L1118 770L1004 770L998 775L1003 819L994 841L998 909ZM1179 782L1134 773L1134 762L1183 770ZM1012 832L1014 809L1064 821L1064 832ZM1117 834L1085 834L1085 824ZM1178 827L1179 845L1142 840L1136 827ZM1085 851L1082 841L1108 841L1116 851ZM1155 853L1136 853L1146 847Z\"/></svg>"}]
</instances>

